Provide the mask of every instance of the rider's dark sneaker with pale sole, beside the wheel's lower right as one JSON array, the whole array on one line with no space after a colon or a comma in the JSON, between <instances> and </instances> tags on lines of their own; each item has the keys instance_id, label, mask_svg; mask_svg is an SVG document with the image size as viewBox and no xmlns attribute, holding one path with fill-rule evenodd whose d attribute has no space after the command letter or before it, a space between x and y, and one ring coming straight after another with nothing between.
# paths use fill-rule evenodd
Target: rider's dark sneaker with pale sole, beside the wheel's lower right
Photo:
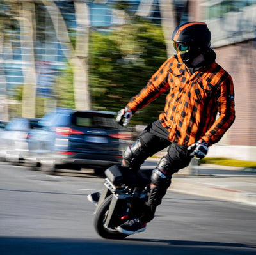
<instances>
[{"instance_id":1,"label":"rider's dark sneaker with pale sole, beside the wheel's lower right","mask_svg":"<svg viewBox=\"0 0 256 255\"><path fill-rule=\"evenodd\" d=\"M118 226L116 230L126 235L132 235L138 232L143 232L147 228L145 222L141 222L138 217L134 217L131 220L127 220L124 224Z\"/></svg>"}]
</instances>

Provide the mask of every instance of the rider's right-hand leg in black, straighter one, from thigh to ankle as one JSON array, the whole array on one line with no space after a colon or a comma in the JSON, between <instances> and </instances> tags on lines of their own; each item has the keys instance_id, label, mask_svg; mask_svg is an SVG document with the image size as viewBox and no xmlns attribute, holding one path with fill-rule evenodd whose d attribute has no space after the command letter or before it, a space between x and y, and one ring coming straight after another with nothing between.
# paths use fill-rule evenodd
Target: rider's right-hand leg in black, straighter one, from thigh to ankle
<instances>
[{"instance_id":1,"label":"rider's right-hand leg in black, straighter one, from thigh to ankle","mask_svg":"<svg viewBox=\"0 0 256 255\"><path fill-rule=\"evenodd\" d=\"M145 208L143 220L149 222L154 218L156 207L161 204L166 190L171 184L172 175L189 165L191 157L186 146L172 143L168 148L168 154L161 158L152 172L150 192Z\"/></svg>"}]
</instances>

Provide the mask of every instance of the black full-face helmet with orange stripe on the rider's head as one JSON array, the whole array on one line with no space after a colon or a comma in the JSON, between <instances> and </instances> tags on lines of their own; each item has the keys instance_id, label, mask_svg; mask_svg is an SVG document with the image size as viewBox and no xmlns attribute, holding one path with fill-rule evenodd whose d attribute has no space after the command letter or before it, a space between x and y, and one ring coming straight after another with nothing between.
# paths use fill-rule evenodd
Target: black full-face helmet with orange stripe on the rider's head
<instances>
[{"instance_id":1,"label":"black full-face helmet with orange stripe on the rider's head","mask_svg":"<svg viewBox=\"0 0 256 255\"><path fill-rule=\"evenodd\" d=\"M186 22L172 34L178 61L189 65L193 59L211 45L211 32L204 22Z\"/></svg>"}]
</instances>

